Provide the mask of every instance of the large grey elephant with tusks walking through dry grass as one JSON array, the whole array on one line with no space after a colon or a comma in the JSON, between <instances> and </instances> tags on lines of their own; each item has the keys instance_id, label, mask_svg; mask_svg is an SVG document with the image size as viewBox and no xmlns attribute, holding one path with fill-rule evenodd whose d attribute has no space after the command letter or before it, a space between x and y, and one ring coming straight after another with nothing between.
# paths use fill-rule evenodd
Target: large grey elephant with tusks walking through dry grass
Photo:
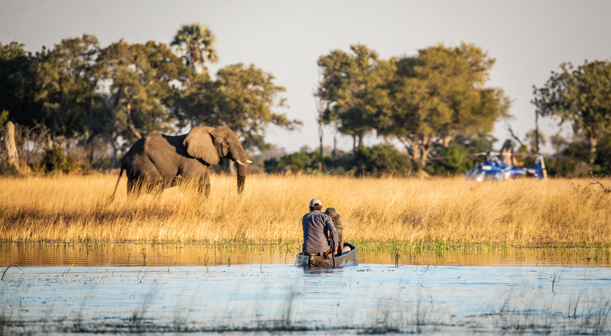
<instances>
[{"instance_id":1,"label":"large grey elephant with tusks walking through dry grass","mask_svg":"<svg viewBox=\"0 0 611 336\"><path fill-rule=\"evenodd\" d=\"M232 159L239 166L238 194L246 181L246 153L240 139L227 126L197 126L188 134L168 136L152 133L134 143L121 164L117 186L125 170L128 194L161 192L183 181L197 186L200 194L210 194L210 165Z\"/></svg>"}]
</instances>

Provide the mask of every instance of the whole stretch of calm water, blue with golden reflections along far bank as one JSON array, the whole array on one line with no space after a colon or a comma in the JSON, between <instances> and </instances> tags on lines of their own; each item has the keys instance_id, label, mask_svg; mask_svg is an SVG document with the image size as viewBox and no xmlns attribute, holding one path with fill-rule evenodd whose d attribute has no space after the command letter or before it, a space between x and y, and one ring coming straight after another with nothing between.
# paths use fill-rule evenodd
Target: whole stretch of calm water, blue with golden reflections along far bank
<instances>
[{"instance_id":1,"label":"whole stretch of calm water, blue with golden reflections along far bank","mask_svg":"<svg viewBox=\"0 0 611 336\"><path fill-rule=\"evenodd\" d=\"M15 265L0 282L6 334L611 332L609 256L596 250L402 251L398 266L396 251L359 251L382 263L329 269L262 247L216 249L216 266L186 266L214 255L203 246L144 247L147 258L128 252L130 266L116 246L88 258L78 246L2 248Z\"/></svg>"}]
</instances>

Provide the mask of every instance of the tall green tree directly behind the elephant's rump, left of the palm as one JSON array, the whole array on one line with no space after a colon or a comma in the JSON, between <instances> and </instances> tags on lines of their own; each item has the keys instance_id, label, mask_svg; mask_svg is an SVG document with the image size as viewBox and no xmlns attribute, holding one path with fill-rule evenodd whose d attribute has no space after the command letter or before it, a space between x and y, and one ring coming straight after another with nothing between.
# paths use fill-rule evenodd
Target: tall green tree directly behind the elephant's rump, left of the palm
<instances>
[{"instance_id":1,"label":"tall green tree directly behind the elephant's rump, left of the palm","mask_svg":"<svg viewBox=\"0 0 611 336\"><path fill-rule=\"evenodd\" d=\"M189 68L164 43L120 40L100 51L97 71L108 85L105 133L114 151L112 169L119 136L132 142L170 126L167 103L176 90L172 82L187 81Z\"/></svg>"}]
</instances>

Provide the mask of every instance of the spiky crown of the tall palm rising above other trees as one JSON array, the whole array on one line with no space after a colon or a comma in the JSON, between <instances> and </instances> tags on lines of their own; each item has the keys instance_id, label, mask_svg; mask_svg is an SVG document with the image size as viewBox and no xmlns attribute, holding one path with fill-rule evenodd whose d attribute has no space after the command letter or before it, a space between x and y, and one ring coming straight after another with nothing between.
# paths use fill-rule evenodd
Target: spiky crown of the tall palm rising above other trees
<instances>
[{"instance_id":1,"label":"spiky crown of the tall palm rising above other trees","mask_svg":"<svg viewBox=\"0 0 611 336\"><path fill-rule=\"evenodd\" d=\"M195 70L196 65L216 63L214 35L207 26L199 23L185 24L174 36L172 45L185 52L186 65Z\"/></svg>"}]
</instances>

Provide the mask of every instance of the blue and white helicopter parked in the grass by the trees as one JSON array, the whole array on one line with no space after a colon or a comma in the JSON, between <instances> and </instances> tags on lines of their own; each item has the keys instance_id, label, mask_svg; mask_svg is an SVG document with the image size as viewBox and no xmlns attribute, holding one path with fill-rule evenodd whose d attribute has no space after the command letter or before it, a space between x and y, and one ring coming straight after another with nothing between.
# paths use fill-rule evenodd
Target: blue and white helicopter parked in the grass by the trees
<instances>
[{"instance_id":1,"label":"blue and white helicopter parked in the grass by the trees","mask_svg":"<svg viewBox=\"0 0 611 336\"><path fill-rule=\"evenodd\" d=\"M486 161L477 164L474 169L467 172L465 176L466 180L509 180L514 177L521 176L534 176L537 181L547 178L547 172L545 170L545 163L543 161L543 155L538 154L517 154L517 153L499 153L489 150L483 153L475 153L476 155L486 155ZM520 155L520 156L536 156L535 167L532 168L517 168L507 163L504 163L499 159L501 155Z\"/></svg>"}]
</instances>

